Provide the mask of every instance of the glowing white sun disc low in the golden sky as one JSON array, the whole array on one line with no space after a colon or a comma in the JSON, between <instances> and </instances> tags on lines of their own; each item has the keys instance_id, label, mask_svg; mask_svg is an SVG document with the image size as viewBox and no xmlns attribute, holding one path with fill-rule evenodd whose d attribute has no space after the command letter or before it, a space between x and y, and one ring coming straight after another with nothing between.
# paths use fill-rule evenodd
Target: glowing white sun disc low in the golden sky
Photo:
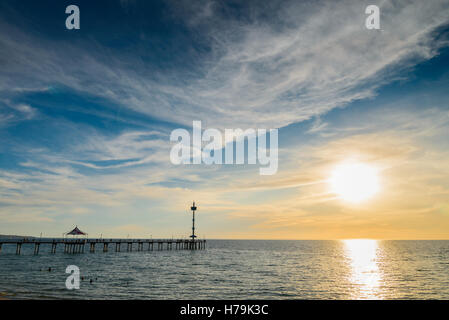
<instances>
[{"instance_id":1,"label":"glowing white sun disc low in the golden sky","mask_svg":"<svg viewBox=\"0 0 449 320\"><path fill-rule=\"evenodd\" d=\"M359 162L338 165L329 179L332 192L348 202L361 202L379 191L377 170Z\"/></svg>"}]
</instances>

